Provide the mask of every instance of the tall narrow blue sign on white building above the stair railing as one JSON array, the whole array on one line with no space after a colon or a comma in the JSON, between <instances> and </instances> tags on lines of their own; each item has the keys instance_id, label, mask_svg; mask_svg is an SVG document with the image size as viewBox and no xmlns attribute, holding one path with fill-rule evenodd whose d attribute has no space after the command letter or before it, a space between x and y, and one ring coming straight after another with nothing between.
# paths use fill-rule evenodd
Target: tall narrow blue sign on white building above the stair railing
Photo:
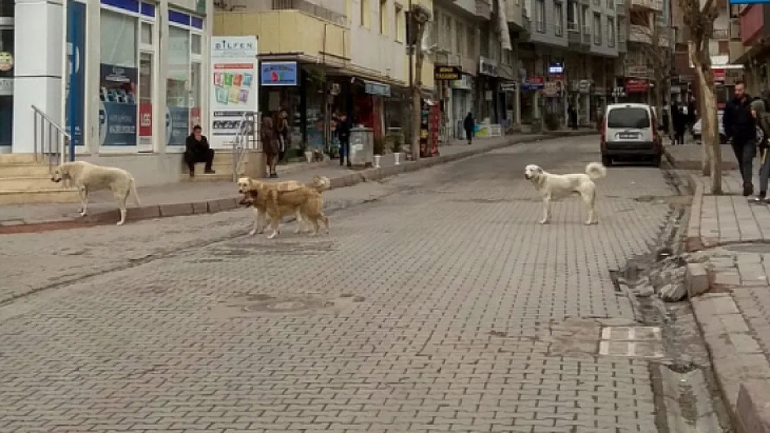
<instances>
[{"instance_id":1,"label":"tall narrow blue sign on white building above the stair railing","mask_svg":"<svg viewBox=\"0 0 770 433\"><path fill-rule=\"evenodd\" d=\"M67 2L67 77L65 128L76 146L83 145L85 118L85 4Z\"/></svg>"}]
</instances>

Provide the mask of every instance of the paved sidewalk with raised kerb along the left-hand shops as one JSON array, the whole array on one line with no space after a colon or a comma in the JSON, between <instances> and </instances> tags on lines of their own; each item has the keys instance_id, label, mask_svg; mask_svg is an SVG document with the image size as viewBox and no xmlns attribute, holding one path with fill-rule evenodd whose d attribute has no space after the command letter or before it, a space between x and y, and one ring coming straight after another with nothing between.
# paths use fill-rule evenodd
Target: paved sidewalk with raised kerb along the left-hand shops
<instances>
[{"instance_id":1,"label":"paved sidewalk with raised kerb along the left-hand shops","mask_svg":"<svg viewBox=\"0 0 770 433\"><path fill-rule=\"evenodd\" d=\"M423 158L419 162L404 162L399 166L393 165L392 155L384 155L379 169L351 170L340 166L338 162L320 162L282 166L279 169L279 175L282 178L292 178L302 182L309 182L314 176L323 175L332 179L332 188L341 188L454 161L507 145L559 136L592 134L594 132L579 130L509 135L477 139L473 145L455 141L441 146L439 157ZM129 208L129 220L229 210L236 207L237 192L233 182L180 182L139 188L139 197L142 206ZM0 205L0 228L8 229L18 225L39 225L62 221L99 223L117 221L118 218L114 199L107 192L97 192L92 195L89 202L89 217L82 218L76 211L77 205L72 203Z\"/></svg>"}]
</instances>

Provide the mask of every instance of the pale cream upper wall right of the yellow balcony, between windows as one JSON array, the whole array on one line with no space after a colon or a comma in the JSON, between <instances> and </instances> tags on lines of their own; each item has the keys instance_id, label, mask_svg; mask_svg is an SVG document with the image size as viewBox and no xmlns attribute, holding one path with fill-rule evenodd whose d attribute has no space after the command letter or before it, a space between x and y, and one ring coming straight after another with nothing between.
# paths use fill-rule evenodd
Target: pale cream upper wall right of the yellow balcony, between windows
<instances>
[{"instance_id":1,"label":"pale cream upper wall right of the yellow balcony, between windows","mask_svg":"<svg viewBox=\"0 0 770 433\"><path fill-rule=\"evenodd\" d=\"M370 2L369 28L360 24L360 2ZM395 41L395 4L393 0L387 0L387 34L380 35L380 0L352 0L350 16L347 17L350 28L350 57L354 68L406 83L406 45ZM404 2L400 4L406 10ZM406 17L402 19L405 22ZM404 38L406 35L401 35L401 39Z\"/></svg>"}]
</instances>

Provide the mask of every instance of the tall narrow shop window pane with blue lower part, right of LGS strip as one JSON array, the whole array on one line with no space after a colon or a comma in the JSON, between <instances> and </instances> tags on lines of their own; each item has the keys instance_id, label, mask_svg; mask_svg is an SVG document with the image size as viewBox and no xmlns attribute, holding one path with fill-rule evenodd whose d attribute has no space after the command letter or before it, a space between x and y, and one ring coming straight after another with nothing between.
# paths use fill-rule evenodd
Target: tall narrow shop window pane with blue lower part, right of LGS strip
<instances>
[{"instance_id":1,"label":"tall narrow shop window pane with blue lower part, right of LGS strip","mask_svg":"<svg viewBox=\"0 0 770 433\"><path fill-rule=\"evenodd\" d=\"M166 137L169 145L184 145L189 135L190 32L169 26L166 72Z\"/></svg>"}]
</instances>

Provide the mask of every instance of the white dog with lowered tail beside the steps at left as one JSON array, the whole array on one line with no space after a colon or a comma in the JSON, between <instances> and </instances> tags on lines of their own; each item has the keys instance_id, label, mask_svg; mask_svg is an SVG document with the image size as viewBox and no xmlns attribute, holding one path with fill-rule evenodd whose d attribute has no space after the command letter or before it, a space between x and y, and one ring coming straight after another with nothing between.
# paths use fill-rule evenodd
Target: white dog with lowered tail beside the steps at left
<instances>
[{"instance_id":1,"label":"white dog with lowered tail beside the steps at left","mask_svg":"<svg viewBox=\"0 0 770 433\"><path fill-rule=\"evenodd\" d=\"M82 201L82 207L80 208L81 216L88 215L89 192L106 189L112 191L120 208L120 221L118 221L118 225L123 225L126 222L126 201L129 195L133 195L137 206L142 205L139 202L139 195L136 193L134 178L122 168L102 167L83 161L65 162L56 167L51 175L51 180L52 182L62 182L65 179L71 180L72 185L78 188Z\"/></svg>"}]
</instances>

